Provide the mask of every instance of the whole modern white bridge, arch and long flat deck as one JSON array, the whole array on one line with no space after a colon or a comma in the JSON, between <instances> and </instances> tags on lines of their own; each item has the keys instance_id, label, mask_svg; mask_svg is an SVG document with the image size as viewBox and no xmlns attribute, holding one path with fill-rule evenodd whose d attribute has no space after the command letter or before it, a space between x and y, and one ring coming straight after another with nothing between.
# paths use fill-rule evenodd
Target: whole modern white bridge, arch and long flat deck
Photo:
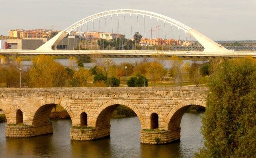
<instances>
[{"instance_id":1,"label":"whole modern white bridge, arch and long flat deck","mask_svg":"<svg viewBox=\"0 0 256 158\"><path fill-rule=\"evenodd\" d=\"M197 40L203 47L204 51L142 51L142 50L56 50L57 44L63 41L64 37L70 34L72 31L76 31L76 29L80 28L82 31L82 25L86 25L87 31L88 31L88 23L91 22L93 24L93 31L94 31L94 21L98 20L99 27L100 27L100 20L105 20L105 28L107 32L107 25L106 25L106 17L111 17L111 28L113 32L113 21L112 16L116 16L118 21L118 29L119 29L119 17L122 17L124 19L125 23L125 15L129 16L131 19L131 33L132 32L132 18L131 15L137 16L137 30L139 31L139 25L138 25L138 16L143 16L144 18L144 33L145 33L145 17L150 18L150 25L151 25L151 31L152 31L152 18L156 19L157 24L158 20L163 21L164 24L164 33L166 36L166 23L170 25L170 28L172 30L172 26L175 26L178 28L178 34L177 36L180 38L180 29L184 31L186 38L187 33L190 35L190 37L193 37L195 40ZM143 21L143 20L142 20ZM127 26L124 25L124 30ZM119 31L117 32L119 33ZM172 32L171 32L172 33ZM173 34L173 33L172 33ZM146 34L145 34L146 36ZM123 44L122 44L123 45ZM136 45L136 43L135 43ZM109 45L110 46L110 45ZM128 46L129 47L129 46ZM123 48L122 48L123 49ZM9 55L21 55L21 56L37 56L37 55L53 55L53 56L88 56L88 55L101 55L103 57L152 57L155 55L165 55L167 57L170 56L178 56L180 58L186 58L186 59L209 59L209 58L236 58L236 57L246 57L246 56L252 56L256 57L256 52L250 52L250 51L239 51L234 52L227 50L225 47L219 45L215 41L209 39L205 35L199 33L195 29L192 29L191 27L188 27L187 25L184 25L183 23L174 20L172 18L169 18L167 16L144 11L144 10L129 10L129 9L121 9L121 10L110 10L106 12L101 12L98 14L94 14L92 16L88 16L87 18L84 18L73 25L66 28L64 31L61 31L55 37L47 41L45 44L43 44L41 47L39 47L36 50L14 50L14 49L8 49L8 50L0 50L0 55L9 56Z\"/></svg>"}]
</instances>

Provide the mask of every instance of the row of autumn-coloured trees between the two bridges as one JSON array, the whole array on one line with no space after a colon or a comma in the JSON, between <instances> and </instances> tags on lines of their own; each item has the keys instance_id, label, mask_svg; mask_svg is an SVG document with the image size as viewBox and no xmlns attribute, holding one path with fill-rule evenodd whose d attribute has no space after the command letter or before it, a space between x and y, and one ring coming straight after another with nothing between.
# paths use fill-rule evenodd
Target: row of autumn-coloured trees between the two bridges
<instances>
[{"instance_id":1,"label":"row of autumn-coloured trees between the two bridges","mask_svg":"<svg viewBox=\"0 0 256 158\"><path fill-rule=\"evenodd\" d=\"M147 58L140 62L123 62L115 64L111 59L96 62L96 66L90 70L84 68L83 58L70 57L70 66L64 67L53 57L40 55L32 59L32 66L21 70L22 87L118 87L125 81L127 86L147 87L149 82L154 86L162 78L169 77L175 82L175 86L182 86L184 76L190 76L190 80L199 86L201 76L209 75L209 64L184 63L178 57L170 58L170 69L164 68L164 56L157 55L153 60ZM88 57L86 57L88 60ZM89 59L90 60L90 59ZM20 86L20 62L16 57L12 64L0 66L0 86ZM78 66L78 70L75 68ZM127 69L125 67L127 66ZM93 83L93 84L91 84ZM124 86L124 85L123 85Z\"/></svg>"}]
</instances>

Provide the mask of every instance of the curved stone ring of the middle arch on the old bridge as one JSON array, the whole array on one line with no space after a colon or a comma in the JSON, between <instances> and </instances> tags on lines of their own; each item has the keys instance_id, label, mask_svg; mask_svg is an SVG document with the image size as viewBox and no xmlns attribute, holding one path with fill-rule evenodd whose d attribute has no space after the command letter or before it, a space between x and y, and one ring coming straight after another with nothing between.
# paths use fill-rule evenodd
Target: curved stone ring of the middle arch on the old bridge
<instances>
[{"instance_id":1,"label":"curved stone ring of the middle arch on the old bridge","mask_svg":"<svg viewBox=\"0 0 256 158\"><path fill-rule=\"evenodd\" d=\"M107 110L110 111L110 113L112 113L114 111L115 107L117 107L118 105L125 105L126 107L129 107L130 109L132 109L136 113L137 117L139 118L139 121L141 123L141 128L145 127L144 117L143 117L143 115L141 115L141 112L133 104L129 103L128 101L124 101L124 100L107 101L106 103L101 105L100 108L96 111L96 113L93 116L92 124L91 124L92 127L98 126L97 120L99 119L100 114L106 112L107 108L108 108ZM107 118L107 119L110 119L110 118Z\"/></svg>"}]
</instances>

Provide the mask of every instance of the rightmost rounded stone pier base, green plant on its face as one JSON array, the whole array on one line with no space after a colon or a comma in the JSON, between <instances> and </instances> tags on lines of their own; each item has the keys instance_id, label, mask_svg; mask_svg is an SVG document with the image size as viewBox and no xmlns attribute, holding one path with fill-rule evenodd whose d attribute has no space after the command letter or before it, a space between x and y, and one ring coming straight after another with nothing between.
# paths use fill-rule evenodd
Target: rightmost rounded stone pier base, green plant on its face
<instances>
[{"instance_id":1,"label":"rightmost rounded stone pier base, green plant on its face","mask_svg":"<svg viewBox=\"0 0 256 158\"><path fill-rule=\"evenodd\" d=\"M141 130L142 144L167 144L180 139L180 129L168 131Z\"/></svg>"}]
</instances>

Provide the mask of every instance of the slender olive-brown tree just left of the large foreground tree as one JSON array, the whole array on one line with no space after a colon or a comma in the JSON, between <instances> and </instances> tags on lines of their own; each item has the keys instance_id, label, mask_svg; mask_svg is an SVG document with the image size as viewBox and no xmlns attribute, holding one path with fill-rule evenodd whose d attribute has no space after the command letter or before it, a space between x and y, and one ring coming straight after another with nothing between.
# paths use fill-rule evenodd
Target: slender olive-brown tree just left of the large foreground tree
<instances>
[{"instance_id":1,"label":"slender olive-brown tree just left of the large foreground tree","mask_svg":"<svg viewBox=\"0 0 256 158\"><path fill-rule=\"evenodd\" d=\"M201 71L200 66L196 62L193 62L193 64L189 68L190 73L190 80L195 83L195 86L199 86L199 80L201 78Z\"/></svg>"}]
</instances>

